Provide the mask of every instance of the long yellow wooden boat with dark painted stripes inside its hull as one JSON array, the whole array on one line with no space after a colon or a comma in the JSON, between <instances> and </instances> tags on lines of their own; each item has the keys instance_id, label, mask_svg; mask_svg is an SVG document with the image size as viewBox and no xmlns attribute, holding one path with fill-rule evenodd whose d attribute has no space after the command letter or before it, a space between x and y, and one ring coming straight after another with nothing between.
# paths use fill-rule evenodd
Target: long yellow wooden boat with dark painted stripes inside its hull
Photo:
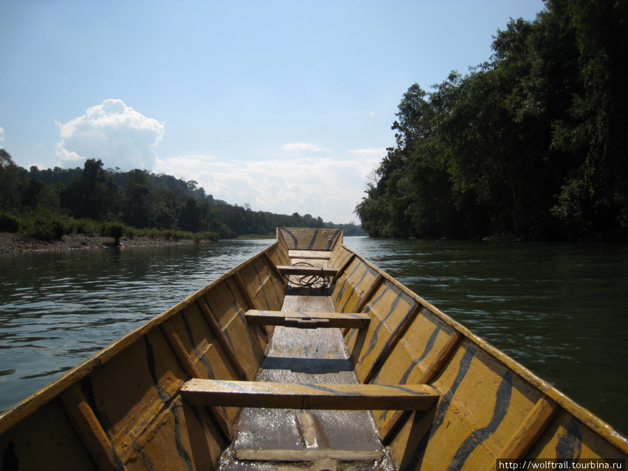
<instances>
[{"instance_id":1,"label":"long yellow wooden boat with dark painted stripes inside its hull","mask_svg":"<svg viewBox=\"0 0 628 471\"><path fill-rule=\"evenodd\" d=\"M489 470L625 460L628 441L341 231L282 228L3 412L0 454L2 470Z\"/></svg>"}]
</instances>

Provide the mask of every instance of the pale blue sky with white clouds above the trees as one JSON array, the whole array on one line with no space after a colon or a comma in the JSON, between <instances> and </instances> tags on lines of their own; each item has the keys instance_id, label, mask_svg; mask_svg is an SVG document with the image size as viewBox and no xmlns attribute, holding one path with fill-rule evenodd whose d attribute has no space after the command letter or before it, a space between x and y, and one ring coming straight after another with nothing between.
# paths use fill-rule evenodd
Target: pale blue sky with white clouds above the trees
<instances>
[{"instance_id":1,"label":"pale blue sky with white clouds above the trees","mask_svg":"<svg viewBox=\"0 0 628 471\"><path fill-rule=\"evenodd\" d=\"M408 88L491 58L541 0L0 0L0 147L359 223Z\"/></svg>"}]
</instances>

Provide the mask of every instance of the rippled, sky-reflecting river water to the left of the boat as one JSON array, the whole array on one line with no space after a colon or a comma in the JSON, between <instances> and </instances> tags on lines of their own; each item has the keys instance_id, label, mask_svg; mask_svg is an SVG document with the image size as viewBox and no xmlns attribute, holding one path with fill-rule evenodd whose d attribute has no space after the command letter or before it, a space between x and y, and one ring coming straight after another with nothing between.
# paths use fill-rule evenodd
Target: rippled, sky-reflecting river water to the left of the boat
<instances>
[{"instance_id":1,"label":"rippled, sky-reflecting river water to the left of the boat","mask_svg":"<svg viewBox=\"0 0 628 471\"><path fill-rule=\"evenodd\" d=\"M0 254L0 410L272 242Z\"/></svg>"}]
</instances>

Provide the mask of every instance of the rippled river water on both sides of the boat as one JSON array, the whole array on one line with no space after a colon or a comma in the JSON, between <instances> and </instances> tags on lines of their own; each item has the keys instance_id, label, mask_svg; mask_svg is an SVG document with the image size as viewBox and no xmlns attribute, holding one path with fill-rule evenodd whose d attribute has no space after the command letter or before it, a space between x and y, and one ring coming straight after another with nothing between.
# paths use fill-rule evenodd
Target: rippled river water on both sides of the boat
<instances>
[{"instance_id":1,"label":"rippled river water on both sides of the boat","mask_svg":"<svg viewBox=\"0 0 628 471\"><path fill-rule=\"evenodd\" d=\"M271 242L0 254L0 410ZM345 244L628 433L628 246Z\"/></svg>"}]
</instances>

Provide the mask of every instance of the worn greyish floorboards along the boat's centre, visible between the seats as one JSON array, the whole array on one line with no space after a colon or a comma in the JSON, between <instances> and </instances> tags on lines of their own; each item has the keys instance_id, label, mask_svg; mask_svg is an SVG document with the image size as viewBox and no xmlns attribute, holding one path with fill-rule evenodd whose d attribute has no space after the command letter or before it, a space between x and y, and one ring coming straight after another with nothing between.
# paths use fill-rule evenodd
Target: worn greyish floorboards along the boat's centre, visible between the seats
<instances>
[{"instance_id":1,"label":"worn greyish floorboards along the boat's centre, visible between the seats","mask_svg":"<svg viewBox=\"0 0 628 471\"><path fill-rule=\"evenodd\" d=\"M296 261L292 260L292 263ZM322 266L327 264L327 260L313 262ZM281 311L329 313L336 308L329 289L288 287ZM341 329L283 326L274 328L267 357L255 380L358 384ZM292 456L298 465L326 458L343 461L346 456L355 456L352 455L354 450L364 451L359 457L359 460L364 458L361 469L393 469L382 464L389 463L390 458L369 410L243 408L234 428L237 433L221 456L220 471L234 468L267 470L268 462L258 454L266 450L273 461ZM250 450L255 451L247 456Z\"/></svg>"}]
</instances>

